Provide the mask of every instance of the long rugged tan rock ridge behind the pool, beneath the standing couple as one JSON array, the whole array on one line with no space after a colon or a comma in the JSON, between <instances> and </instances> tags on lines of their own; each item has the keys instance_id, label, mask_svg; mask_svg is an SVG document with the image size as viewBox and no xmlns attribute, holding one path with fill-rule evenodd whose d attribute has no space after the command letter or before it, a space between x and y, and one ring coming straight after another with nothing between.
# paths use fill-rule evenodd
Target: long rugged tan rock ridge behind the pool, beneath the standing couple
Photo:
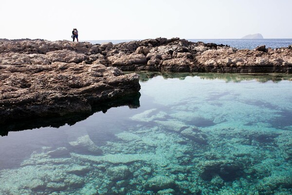
<instances>
[{"instance_id":1,"label":"long rugged tan rock ridge behind the pool, beneath the standing couple","mask_svg":"<svg viewBox=\"0 0 292 195\"><path fill-rule=\"evenodd\" d=\"M53 62L104 64L122 71L292 73L292 49L236 49L215 43L157 38L118 44L24 40L0 41L0 64Z\"/></svg>"}]
</instances>

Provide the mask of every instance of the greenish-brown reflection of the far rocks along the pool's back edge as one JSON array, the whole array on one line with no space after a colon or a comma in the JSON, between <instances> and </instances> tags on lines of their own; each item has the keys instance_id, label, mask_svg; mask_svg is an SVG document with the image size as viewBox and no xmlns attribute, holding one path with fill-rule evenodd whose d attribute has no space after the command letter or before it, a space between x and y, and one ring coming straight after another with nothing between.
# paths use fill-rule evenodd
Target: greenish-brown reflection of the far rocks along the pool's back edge
<instances>
[{"instance_id":1,"label":"greenish-brown reflection of the far rocks along the pool's back edge","mask_svg":"<svg viewBox=\"0 0 292 195\"><path fill-rule=\"evenodd\" d=\"M281 80L292 81L292 74L280 74L280 73L269 73L269 74L237 74L237 73L161 73L161 72L136 72L140 75L140 81L145 82L151 78L162 76L163 78L179 78L180 80L186 77L200 77L201 79L220 79L226 82L240 82L248 80L256 80L258 82L279 82Z\"/></svg>"}]
</instances>

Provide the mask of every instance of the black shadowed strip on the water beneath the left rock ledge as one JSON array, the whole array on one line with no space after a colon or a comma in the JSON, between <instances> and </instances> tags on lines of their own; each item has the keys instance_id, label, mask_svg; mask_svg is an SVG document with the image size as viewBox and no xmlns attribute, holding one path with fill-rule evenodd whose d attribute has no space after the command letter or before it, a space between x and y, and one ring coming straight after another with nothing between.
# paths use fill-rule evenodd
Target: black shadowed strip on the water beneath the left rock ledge
<instances>
[{"instance_id":1,"label":"black shadowed strip on the water beneath the left rock ledge","mask_svg":"<svg viewBox=\"0 0 292 195\"><path fill-rule=\"evenodd\" d=\"M8 136L10 131L23 131L28 129L35 129L41 127L61 127L65 124L74 125L76 122L85 120L96 112L102 111L106 113L112 107L128 106L129 108L140 107L140 93L130 95L120 99L112 100L110 102L102 102L99 104L91 105L91 112L77 113L72 115L66 115L62 117L38 117L25 120L17 120L8 123L1 124L0 135Z\"/></svg>"}]
</instances>

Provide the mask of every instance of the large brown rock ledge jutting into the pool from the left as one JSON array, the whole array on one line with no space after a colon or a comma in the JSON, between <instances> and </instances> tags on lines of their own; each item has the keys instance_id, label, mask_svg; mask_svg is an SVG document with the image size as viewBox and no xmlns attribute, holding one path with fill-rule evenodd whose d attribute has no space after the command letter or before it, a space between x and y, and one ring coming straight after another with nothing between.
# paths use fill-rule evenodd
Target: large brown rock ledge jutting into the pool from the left
<instances>
[{"instance_id":1,"label":"large brown rock ledge jutting into the pool from the left","mask_svg":"<svg viewBox=\"0 0 292 195\"><path fill-rule=\"evenodd\" d=\"M0 123L26 117L91 112L102 103L140 90L137 74L105 65L52 62L1 65Z\"/></svg>"}]
</instances>

